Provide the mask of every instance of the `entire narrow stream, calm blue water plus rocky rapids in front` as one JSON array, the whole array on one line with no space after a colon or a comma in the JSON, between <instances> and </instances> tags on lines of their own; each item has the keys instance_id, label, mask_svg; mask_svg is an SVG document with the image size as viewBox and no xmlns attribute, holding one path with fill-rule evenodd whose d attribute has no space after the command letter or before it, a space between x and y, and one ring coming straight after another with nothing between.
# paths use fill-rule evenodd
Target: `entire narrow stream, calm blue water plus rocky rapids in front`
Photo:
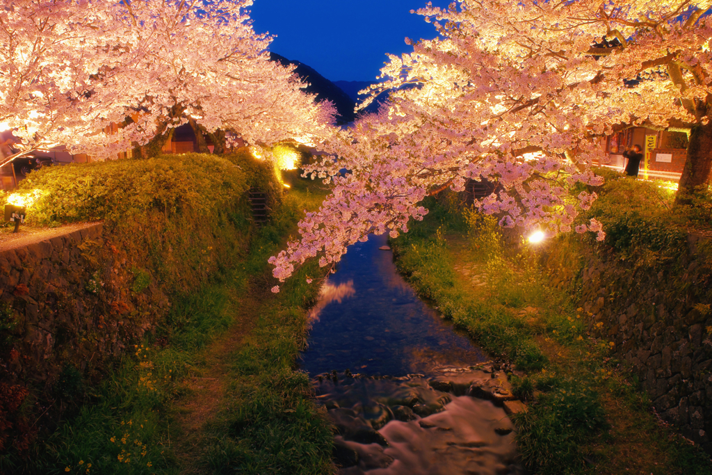
<instances>
[{"instance_id":1,"label":"entire narrow stream, calm blue water plus rocky rapids in front","mask_svg":"<svg viewBox=\"0 0 712 475\"><path fill-rule=\"evenodd\" d=\"M418 298L386 245L351 246L310 312L301 367L337 428L340 474L523 474L506 377Z\"/></svg>"}]
</instances>

